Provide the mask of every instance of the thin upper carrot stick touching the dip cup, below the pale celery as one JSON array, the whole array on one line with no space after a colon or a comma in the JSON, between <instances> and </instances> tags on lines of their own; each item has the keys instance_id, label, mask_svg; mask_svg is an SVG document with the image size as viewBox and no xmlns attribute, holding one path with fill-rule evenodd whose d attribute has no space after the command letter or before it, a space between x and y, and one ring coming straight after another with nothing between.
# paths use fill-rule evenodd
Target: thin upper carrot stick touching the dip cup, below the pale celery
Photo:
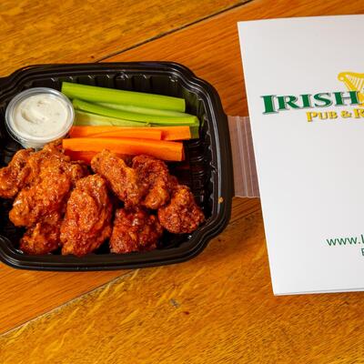
<instances>
[{"instance_id":1,"label":"thin upper carrot stick touching the dip cup, below the pale celery","mask_svg":"<svg viewBox=\"0 0 364 364\"><path fill-rule=\"evenodd\" d=\"M69 135L71 137L140 137L144 139L162 139L162 131L155 130L151 127L143 127L143 131L133 127L116 127L116 126L73 126ZM105 136L104 136L105 134Z\"/></svg>"}]
</instances>

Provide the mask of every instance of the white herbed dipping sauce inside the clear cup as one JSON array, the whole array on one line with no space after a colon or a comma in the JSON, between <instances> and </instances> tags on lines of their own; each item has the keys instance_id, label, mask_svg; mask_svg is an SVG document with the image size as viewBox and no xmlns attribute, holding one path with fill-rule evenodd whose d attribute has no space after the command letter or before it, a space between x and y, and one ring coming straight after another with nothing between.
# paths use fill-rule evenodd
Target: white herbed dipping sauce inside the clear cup
<instances>
[{"instance_id":1,"label":"white herbed dipping sauce inside the clear cup","mask_svg":"<svg viewBox=\"0 0 364 364\"><path fill-rule=\"evenodd\" d=\"M37 94L15 105L12 127L19 136L49 139L67 130L69 117L65 100L54 95Z\"/></svg>"}]
</instances>

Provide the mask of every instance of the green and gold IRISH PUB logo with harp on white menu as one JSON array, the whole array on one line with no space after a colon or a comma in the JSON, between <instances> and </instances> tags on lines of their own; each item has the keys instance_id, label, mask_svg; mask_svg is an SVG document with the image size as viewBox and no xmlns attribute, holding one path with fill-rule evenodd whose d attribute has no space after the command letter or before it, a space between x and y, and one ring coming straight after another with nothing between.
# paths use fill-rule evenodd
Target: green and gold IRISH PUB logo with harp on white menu
<instances>
[{"instance_id":1,"label":"green and gold IRISH PUB logo with harp on white menu","mask_svg":"<svg viewBox=\"0 0 364 364\"><path fill-rule=\"evenodd\" d=\"M277 114L289 109L317 109L329 106L353 106L349 110L337 109L330 111L307 112L308 121L313 119L364 118L364 74L355 72L340 72L338 80L346 86L347 91L319 92L318 94L302 95L265 95L263 99L263 114Z\"/></svg>"}]
</instances>

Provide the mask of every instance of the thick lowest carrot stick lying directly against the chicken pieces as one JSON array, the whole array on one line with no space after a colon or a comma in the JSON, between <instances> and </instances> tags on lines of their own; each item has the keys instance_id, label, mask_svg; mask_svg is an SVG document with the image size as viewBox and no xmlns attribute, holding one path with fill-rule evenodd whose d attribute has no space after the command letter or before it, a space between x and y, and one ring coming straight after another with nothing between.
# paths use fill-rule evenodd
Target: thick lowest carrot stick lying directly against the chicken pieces
<instances>
[{"instance_id":1,"label":"thick lowest carrot stick lying directly against the chicken pieces","mask_svg":"<svg viewBox=\"0 0 364 364\"><path fill-rule=\"evenodd\" d=\"M79 137L63 139L63 148L75 152L101 152L108 149L118 154L147 154L171 161L181 161L184 157L182 143L151 139Z\"/></svg>"}]
</instances>

